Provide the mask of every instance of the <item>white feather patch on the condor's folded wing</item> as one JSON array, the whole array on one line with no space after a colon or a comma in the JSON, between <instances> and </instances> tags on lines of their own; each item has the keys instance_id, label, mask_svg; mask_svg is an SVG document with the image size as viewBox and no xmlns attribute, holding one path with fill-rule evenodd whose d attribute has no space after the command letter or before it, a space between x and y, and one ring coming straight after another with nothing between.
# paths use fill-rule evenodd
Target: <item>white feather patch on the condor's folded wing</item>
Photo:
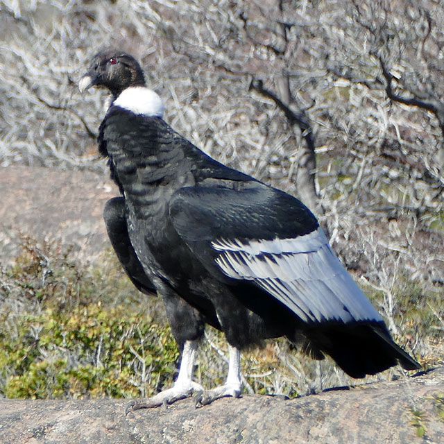
<instances>
[{"instance_id":1,"label":"white feather patch on the condor's folded wing","mask_svg":"<svg viewBox=\"0 0 444 444\"><path fill-rule=\"evenodd\" d=\"M334 255L322 230L295 239L212 242L230 278L252 280L302 321L382 321Z\"/></svg>"}]
</instances>

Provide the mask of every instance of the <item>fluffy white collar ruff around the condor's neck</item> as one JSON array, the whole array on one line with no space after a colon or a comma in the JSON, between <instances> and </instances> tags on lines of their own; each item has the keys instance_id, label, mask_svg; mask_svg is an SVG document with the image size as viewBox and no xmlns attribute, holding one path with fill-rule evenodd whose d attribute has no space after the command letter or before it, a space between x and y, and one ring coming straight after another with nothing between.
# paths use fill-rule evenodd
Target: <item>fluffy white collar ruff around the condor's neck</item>
<instances>
[{"instance_id":1,"label":"fluffy white collar ruff around the condor's neck","mask_svg":"<svg viewBox=\"0 0 444 444\"><path fill-rule=\"evenodd\" d=\"M163 117L165 110L160 96L152 89L142 86L123 89L112 104L147 117Z\"/></svg>"}]
</instances>

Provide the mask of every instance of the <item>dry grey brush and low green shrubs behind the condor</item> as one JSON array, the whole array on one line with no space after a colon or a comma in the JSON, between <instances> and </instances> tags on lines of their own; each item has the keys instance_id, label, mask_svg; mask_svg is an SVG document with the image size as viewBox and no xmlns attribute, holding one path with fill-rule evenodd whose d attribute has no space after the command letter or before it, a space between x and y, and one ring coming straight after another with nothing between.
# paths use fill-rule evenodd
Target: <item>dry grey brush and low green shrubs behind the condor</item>
<instances>
[{"instance_id":1,"label":"dry grey brush and low green shrubs behind the condor","mask_svg":"<svg viewBox=\"0 0 444 444\"><path fill-rule=\"evenodd\" d=\"M95 142L105 96L76 83L96 51L122 47L173 128L300 196L398 343L442 364L443 20L432 0L0 0L0 162L107 174ZM162 307L110 251L78 264L67 246L24 237L1 268L0 316L1 395L149 395L173 379ZM197 377L210 386L224 368L209 330ZM350 382L285 341L251 351L243 370L255 392Z\"/></svg>"}]
</instances>

